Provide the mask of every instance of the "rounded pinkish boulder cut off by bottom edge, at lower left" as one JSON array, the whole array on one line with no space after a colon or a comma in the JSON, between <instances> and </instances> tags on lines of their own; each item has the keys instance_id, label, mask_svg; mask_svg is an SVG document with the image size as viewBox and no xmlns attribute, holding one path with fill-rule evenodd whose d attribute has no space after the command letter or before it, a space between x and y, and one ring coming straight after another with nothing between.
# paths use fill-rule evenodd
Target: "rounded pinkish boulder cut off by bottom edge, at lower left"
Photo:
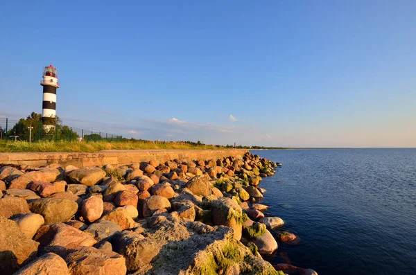
<instances>
[{"instance_id":1,"label":"rounded pinkish boulder cut off by bottom edge, at lower left","mask_svg":"<svg viewBox=\"0 0 416 275\"><path fill-rule=\"evenodd\" d=\"M54 253L46 253L28 263L14 275L70 275L67 263Z\"/></svg>"}]
</instances>

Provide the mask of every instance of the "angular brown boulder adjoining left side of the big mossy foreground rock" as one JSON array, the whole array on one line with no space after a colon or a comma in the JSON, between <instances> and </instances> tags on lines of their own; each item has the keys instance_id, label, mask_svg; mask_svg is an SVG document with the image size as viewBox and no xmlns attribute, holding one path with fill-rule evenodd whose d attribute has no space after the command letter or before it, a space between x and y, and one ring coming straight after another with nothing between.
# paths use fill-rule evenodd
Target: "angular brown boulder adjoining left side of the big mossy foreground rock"
<instances>
[{"instance_id":1,"label":"angular brown boulder adjoining left side of the big mossy foreground rock","mask_svg":"<svg viewBox=\"0 0 416 275\"><path fill-rule=\"evenodd\" d=\"M112 240L113 250L125 258L128 272L135 272L150 263L159 254L157 242L135 232L119 232Z\"/></svg>"}]
</instances>

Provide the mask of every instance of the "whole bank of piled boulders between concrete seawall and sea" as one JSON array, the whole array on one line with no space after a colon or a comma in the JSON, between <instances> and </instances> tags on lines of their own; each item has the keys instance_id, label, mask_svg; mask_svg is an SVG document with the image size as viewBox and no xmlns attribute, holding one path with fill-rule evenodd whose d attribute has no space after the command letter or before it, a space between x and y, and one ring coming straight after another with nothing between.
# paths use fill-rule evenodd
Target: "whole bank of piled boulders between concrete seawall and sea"
<instances>
[{"instance_id":1,"label":"whole bank of piled boulders between concrete seawall and sea","mask_svg":"<svg viewBox=\"0 0 416 275\"><path fill-rule=\"evenodd\" d=\"M0 165L0 274L316 274L261 255L284 224L262 177L280 163L175 159L130 166ZM281 242L297 237L280 232Z\"/></svg>"}]
</instances>

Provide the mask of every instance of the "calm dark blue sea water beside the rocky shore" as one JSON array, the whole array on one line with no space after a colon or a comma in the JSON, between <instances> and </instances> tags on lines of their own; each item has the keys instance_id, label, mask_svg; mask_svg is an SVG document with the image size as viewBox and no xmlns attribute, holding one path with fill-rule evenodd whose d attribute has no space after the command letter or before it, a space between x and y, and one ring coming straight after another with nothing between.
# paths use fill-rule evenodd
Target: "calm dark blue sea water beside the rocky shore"
<instances>
[{"instance_id":1,"label":"calm dark blue sea water beside the rocky shore","mask_svg":"<svg viewBox=\"0 0 416 275\"><path fill-rule=\"evenodd\" d=\"M280 161L266 215L301 238L271 263L325 274L416 274L416 149L252 150Z\"/></svg>"}]
</instances>

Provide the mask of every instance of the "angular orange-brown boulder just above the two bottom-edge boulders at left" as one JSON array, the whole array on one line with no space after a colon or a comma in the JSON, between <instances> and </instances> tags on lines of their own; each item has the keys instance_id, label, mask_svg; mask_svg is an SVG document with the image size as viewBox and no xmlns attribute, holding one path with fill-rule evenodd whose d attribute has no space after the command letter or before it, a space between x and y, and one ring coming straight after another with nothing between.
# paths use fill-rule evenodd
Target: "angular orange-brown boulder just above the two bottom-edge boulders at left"
<instances>
[{"instance_id":1,"label":"angular orange-brown boulder just above the two bottom-edge boulders at left","mask_svg":"<svg viewBox=\"0 0 416 275\"><path fill-rule=\"evenodd\" d=\"M78 246L91 247L96 244L92 233L83 232L68 224L57 222L41 227L34 238L42 247L52 249L74 249Z\"/></svg>"}]
</instances>

